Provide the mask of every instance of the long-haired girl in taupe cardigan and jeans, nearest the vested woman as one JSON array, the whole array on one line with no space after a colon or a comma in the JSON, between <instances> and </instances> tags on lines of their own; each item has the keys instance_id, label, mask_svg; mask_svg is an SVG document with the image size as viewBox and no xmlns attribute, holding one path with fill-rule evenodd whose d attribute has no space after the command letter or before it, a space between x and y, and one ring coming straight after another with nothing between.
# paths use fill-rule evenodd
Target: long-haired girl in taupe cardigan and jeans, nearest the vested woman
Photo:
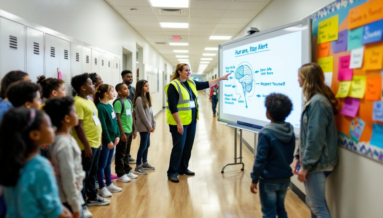
<instances>
[{"instance_id":1,"label":"long-haired girl in taupe cardigan and jeans, nearest the vested woman","mask_svg":"<svg viewBox=\"0 0 383 218\"><path fill-rule=\"evenodd\" d=\"M134 95L133 107L136 111L136 127L140 133L140 147L137 152L137 163L134 172L147 174L145 170L154 170L155 167L147 162L147 151L150 146L150 133L155 130L155 120L152 110L152 98L149 93L149 84L141 79L136 84L137 92Z\"/></svg>"}]
</instances>

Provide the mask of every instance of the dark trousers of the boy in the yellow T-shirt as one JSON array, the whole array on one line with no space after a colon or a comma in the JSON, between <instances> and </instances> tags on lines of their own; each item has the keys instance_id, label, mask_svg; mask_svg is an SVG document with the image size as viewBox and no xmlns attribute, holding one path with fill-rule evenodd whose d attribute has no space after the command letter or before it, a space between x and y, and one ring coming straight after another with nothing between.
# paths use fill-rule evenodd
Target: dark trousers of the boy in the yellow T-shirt
<instances>
[{"instance_id":1,"label":"dark trousers of the boy in the yellow T-shirt","mask_svg":"<svg viewBox=\"0 0 383 218\"><path fill-rule=\"evenodd\" d=\"M82 168L85 171L84 188L82 189L82 197L84 198L85 205L87 205L86 196L90 199L95 199L96 191L96 174L98 169L98 159L100 158L101 146L97 149L92 149L92 157L85 157L85 151L81 151L82 155Z\"/></svg>"}]
</instances>

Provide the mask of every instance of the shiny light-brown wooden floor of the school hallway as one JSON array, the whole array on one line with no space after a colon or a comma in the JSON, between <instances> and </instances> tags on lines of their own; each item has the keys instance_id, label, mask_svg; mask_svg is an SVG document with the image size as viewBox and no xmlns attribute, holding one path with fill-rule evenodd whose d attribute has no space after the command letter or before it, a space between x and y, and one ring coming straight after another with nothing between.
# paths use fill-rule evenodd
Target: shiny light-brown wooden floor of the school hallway
<instances>
[{"instance_id":1,"label":"shiny light-brown wooden floor of the school hallway","mask_svg":"<svg viewBox=\"0 0 383 218\"><path fill-rule=\"evenodd\" d=\"M107 199L110 205L89 207L95 218L117 217L262 217L259 194L250 192L250 172L254 157L243 148L242 165L223 165L234 161L234 132L213 118L208 96L200 95L200 120L189 162L195 176L180 175L179 183L167 179L172 137L163 110L155 119L151 134L148 162L155 170L139 175L131 182L114 181L123 191ZM132 142L131 154L136 158L139 136ZM133 170L135 164L131 165ZM114 173L114 165L112 165ZM310 217L309 209L290 190L285 200L289 217Z\"/></svg>"}]
</instances>

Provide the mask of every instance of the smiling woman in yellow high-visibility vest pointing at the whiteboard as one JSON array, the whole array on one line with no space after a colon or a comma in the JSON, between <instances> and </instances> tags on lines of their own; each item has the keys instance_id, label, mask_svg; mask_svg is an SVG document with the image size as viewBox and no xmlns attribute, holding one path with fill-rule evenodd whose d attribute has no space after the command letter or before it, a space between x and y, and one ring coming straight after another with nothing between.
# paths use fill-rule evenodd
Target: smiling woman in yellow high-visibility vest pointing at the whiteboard
<instances>
[{"instance_id":1,"label":"smiling woman in yellow high-visibility vest pointing at the whiteboard","mask_svg":"<svg viewBox=\"0 0 383 218\"><path fill-rule=\"evenodd\" d=\"M167 97L166 121L172 133L173 149L170 154L167 177L171 182L179 182L178 174L192 176L188 170L191 149L193 148L196 122L198 119L198 90L214 86L221 80L228 80L226 74L206 82L190 79L190 66L180 63L173 72L171 82L165 86Z\"/></svg>"}]
</instances>

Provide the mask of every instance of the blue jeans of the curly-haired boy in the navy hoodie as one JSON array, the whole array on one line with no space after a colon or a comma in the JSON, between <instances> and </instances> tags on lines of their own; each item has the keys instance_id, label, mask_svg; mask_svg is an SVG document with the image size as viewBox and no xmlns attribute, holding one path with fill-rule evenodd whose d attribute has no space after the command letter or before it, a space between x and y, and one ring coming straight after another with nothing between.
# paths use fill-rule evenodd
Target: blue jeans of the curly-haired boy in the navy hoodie
<instances>
[{"instance_id":1,"label":"blue jeans of the curly-haired boy in the navy hoodie","mask_svg":"<svg viewBox=\"0 0 383 218\"><path fill-rule=\"evenodd\" d=\"M287 218L285 196L290 182L282 184L259 183L259 197L264 218Z\"/></svg>"}]
</instances>

